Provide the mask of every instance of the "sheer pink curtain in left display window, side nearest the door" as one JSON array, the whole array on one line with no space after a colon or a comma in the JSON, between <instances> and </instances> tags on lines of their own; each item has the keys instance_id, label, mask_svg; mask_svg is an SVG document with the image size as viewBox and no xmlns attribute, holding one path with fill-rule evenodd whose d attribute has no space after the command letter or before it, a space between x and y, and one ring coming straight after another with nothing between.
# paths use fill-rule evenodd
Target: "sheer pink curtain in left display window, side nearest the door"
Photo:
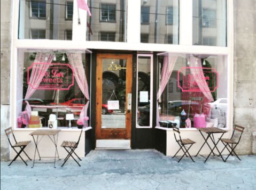
<instances>
[{"instance_id":1,"label":"sheer pink curtain in left display window, side nearest the door","mask_svg":"<svg viewBox=\"0 0 256 190\"><path fill-rule=\"evenodd\" d=\"M74 76L75 80L81 90L81 92L84 94L88 102L86 105L84 105L81 113L80 113L80 118L84 118L87 116L87 110L89 106L89 87L88 87L88 82L86 79L86 71L83 68L83 60L82 60L82 54L81 53L67 53L67 57L69 60L69 64L71 67L74 69ZM86 121L86 126L88 126L88 123Z\"/></svg>"}]
</instances>

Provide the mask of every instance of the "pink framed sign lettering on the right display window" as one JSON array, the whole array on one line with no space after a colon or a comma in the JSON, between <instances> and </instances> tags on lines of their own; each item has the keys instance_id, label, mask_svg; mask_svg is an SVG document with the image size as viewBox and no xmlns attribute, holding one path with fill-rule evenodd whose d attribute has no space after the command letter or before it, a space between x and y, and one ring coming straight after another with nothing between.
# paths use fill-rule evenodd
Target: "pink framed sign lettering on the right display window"
<instances>
[{"instance_id":1,"label":"pink framed sign lettering on the right display window","mask_svg":"<svg viewBox=\"0 0 256 190\"><path fill-rule=\"evenodd\" d=\"M191 72L193 69L194 74ZM203 71L204 75L201 74ZM180 79L180 74L183 76ZM182 82L181 82L182 81ZM178 87L181 88L182 92L202 92L199 86L208 86L209 92L215 92L218 88L218 72L212 68L201 68L201 67L182 67L178 71ZM207 88L204 88L207 89ZM204 92L207 92L205 90Z\"/></svg>"}]
</instances>

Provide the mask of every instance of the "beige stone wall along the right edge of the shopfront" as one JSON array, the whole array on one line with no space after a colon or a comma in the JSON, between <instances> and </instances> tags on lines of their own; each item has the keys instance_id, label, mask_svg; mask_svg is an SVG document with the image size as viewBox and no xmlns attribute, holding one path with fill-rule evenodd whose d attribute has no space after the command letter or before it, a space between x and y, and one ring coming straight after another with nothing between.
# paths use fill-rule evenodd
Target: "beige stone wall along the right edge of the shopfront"
<instances>
[{"instance_id":1,"label":"beige stone wall along the right edge of the shopfront","mask_svg":"<svg viewBox=\"0 0 256 190\"><path fill-rule=\"evenodd\" d=\"M256 141L256 1L234 1L234 123L244 126L239 154L251 154Z\"/></svg>"}]
</instances>

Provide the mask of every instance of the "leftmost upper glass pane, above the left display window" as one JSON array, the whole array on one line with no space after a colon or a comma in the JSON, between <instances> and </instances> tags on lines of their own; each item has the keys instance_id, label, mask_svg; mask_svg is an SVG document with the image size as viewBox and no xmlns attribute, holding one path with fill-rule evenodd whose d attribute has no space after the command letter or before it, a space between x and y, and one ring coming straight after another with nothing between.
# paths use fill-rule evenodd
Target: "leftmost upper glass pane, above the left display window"
<instances>
[{"instance_id":1,"label":"leftmost upper glass pane, above the left display window","mask_svg":"<svg viewBox=\"0 0 256 190\"><path fill-rule=\"evenodd\" d=\"M20 0L19 39L65 40L65 31L73 28L72 19L73 0Z\"/></svg>"}]
</instances>

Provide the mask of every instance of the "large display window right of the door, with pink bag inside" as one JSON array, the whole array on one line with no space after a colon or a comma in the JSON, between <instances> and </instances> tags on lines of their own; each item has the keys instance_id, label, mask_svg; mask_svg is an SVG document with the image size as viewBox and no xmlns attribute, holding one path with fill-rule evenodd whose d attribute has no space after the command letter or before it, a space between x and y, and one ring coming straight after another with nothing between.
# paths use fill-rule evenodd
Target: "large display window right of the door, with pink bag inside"
<instances>
[{"instance_id":1,"label":"large display window right of the door, with pink bag inside","mask_svg":"<svg viewBox=\"0 0 256 190\"><path fill-rule=\"evenodd\" d=\"M160 127L227 127L227 57L166 54L159 57L158 109ZM171 75L165 75L169 69Z\"/></svg>"}]
</instances>

